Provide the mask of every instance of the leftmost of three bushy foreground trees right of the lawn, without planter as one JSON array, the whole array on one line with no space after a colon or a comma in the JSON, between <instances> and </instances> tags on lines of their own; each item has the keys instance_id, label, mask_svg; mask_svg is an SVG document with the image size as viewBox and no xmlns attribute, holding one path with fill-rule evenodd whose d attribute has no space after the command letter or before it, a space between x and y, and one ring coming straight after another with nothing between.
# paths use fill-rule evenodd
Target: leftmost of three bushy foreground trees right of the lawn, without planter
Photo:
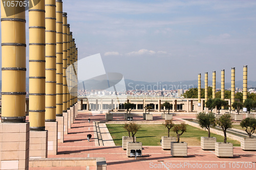
<instances>
[{"instance_id":1,"label":"leftmost of three bushy foreground trees right of the lawn, without planter","mask_svg":"<svg viewBox=\"0 0 256 170\"><path fill-rule=\"evenodd\" d=\"M210 126L216 126L216 118L214 113L200 112L197 115L197 119L200 127L208 130L208 137L210 137Z\"/></svg>"}]
</instances>

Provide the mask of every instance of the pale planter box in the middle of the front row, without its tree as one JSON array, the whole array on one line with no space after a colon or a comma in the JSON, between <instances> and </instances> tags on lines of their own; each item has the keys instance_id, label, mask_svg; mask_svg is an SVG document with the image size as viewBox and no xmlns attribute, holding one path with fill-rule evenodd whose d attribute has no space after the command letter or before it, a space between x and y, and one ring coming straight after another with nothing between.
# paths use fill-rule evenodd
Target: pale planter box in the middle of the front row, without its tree
<instances>
[{"instance_id":1,"label":"pale planter box in the middle of the front row, without its tree","mask_svg":"<svg viewBox=\"0 0 256 170\"><path fill-rule=\"evenodd\" d=\"M187 143L186 142L171 142L170 154L172 156L187 156Z\"/></svg>"}]
</instances>

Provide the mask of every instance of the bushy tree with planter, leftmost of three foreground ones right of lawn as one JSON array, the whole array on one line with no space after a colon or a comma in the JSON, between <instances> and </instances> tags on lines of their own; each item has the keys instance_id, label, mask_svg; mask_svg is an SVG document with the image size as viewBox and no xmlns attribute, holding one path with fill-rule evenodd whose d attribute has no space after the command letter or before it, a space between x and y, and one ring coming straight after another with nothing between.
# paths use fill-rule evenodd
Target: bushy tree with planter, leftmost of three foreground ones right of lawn
<instances>
[{"instance_id":1,"label":"bushy tree with planter, leftmost of three foreground ones right of lawn","mask_svg":"<svg viewBox=\"0 0 256 170\"><path fill-rule=\"evenodd\" d=\"M208 130L208 137L201 137L201 148L203 150L214 150L216 137L210 137L210 126L216 126L215 114L200 112L197 115L197 119L200 127Z\"/></svg>"}]
</instances>

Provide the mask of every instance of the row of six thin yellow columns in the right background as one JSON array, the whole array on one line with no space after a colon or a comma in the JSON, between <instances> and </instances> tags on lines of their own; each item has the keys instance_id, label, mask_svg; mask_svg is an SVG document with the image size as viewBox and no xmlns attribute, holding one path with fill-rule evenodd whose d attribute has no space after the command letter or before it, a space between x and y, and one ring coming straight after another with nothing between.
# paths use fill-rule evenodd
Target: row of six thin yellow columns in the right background
<instances>
[{"instance_id":1,"label":"row of six thin yellow columns in the right background","mask_svg":"<svg viewBox=\"0 0 256 170\"><path fill-rule=\"evenodd\" d=\"M235 101L235 68L231 68L231 104ZM212 99L216 98L216 71L212 71ZM225 69L221 70L221 99L225 99ZM243 67L243 102L247 99L247 65ZM205 102L208 100L208 72L205 72ZM198 74L198 106L201 106L201 74ZM205 104L206 107L206 104ZM224 109L224 108L222 108ZM233 108L232 108L233 109ZM244 108L244 111L247 111Z\"/></svg>"}]
</instances>

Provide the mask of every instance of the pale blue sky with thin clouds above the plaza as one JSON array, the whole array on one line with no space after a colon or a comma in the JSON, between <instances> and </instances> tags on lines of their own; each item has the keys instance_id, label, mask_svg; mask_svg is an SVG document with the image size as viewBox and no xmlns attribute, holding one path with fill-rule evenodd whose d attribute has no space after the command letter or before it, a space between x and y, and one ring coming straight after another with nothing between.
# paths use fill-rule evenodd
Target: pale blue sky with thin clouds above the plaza
<instances>
[{"instance_id":1,"label":"pale blue sky with thin clouds above the plaza","mask_svg":"<svg viewBox=\"0 0 256 170\"><path fill-rule=\"evenodd\" d=\"M230 81L236 67L242 80L248 65L256 81L256 1L63 0L63 12L78 59L100 53L106 72L124 79L176 82L201 73L203 80L216 71L220 82L225 69ZM28 30L27 15L27 60Z\"/></svg>"}]
</instances>

